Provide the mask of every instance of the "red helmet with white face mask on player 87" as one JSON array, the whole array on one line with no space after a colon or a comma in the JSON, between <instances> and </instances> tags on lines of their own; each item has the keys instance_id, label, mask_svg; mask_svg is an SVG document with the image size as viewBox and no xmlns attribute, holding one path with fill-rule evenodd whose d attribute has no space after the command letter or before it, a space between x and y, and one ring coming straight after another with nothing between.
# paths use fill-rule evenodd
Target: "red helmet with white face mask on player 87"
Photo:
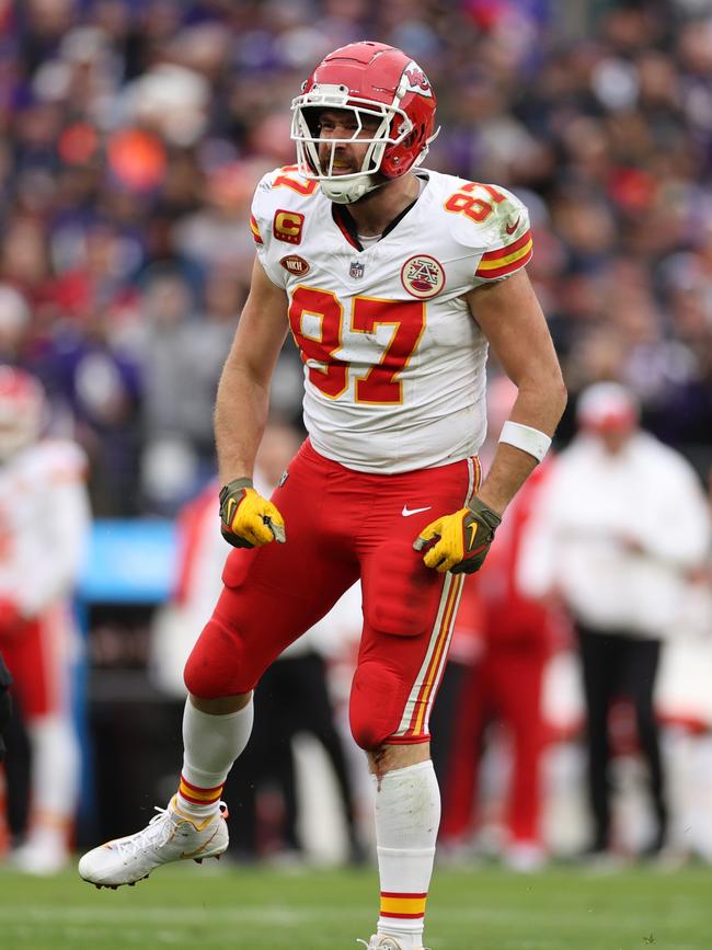
<instances>
[{"instance_id":1,"label":"red helmet with white face mask on player 87","mask_svg":"<svg viewBox=\"0 0 712 950\"><path fill-rule=\"evenodd\" d=\"M291 103L299 171L320 181L332 202L358 201L383 179L403 175L423 161L437 135L435 107L426 75L400 49L370 41L342 46L319 64ZM319 159L319 115L324 108L352 110L356 121L348 138L329 139L328 162ZM359 135L364 115L379 119L368 138ZM360 170L334 174L335 147L355 139L369 145Z\"/></svg>"}]
</instances>

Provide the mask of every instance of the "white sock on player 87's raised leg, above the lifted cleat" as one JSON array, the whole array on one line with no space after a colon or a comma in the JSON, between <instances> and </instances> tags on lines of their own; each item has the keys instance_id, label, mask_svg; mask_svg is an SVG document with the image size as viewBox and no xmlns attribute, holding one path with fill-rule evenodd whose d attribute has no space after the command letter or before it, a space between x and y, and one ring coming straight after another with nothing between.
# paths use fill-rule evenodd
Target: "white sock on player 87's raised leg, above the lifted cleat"
<instances>
[{"instance_id":1,"label":"white sock on player 87's raised leg, above the lifted cleat","mask_svg":"<svg viewBox=\"0 0 712 950\"><path fill-rule=\"evenodd\" d=\"M227 716L196 709L190 698L183 712L183 770L177 792L180 811L196 819L215 814L232 763L248 744L254 720L250 702Z\"/></svg>"}]
</instances>

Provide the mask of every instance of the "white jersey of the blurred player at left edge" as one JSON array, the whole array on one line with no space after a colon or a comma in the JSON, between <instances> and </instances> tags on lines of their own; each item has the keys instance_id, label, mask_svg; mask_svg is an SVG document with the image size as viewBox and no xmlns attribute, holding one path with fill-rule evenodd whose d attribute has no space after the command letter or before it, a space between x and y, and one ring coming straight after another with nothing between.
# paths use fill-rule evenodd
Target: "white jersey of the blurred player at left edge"
<instances>
[{"instance_id":1,"label":"white jersey of the blurred player at left edge","mask_svg":"<svg viewBox=\"0 0 712 950\"><path fill-rule=\"evenodd\" d=\"M87 459L41 442L0 466L0 596L35 617L77 583L90 527Z\"/></svg>"}]
</instances>

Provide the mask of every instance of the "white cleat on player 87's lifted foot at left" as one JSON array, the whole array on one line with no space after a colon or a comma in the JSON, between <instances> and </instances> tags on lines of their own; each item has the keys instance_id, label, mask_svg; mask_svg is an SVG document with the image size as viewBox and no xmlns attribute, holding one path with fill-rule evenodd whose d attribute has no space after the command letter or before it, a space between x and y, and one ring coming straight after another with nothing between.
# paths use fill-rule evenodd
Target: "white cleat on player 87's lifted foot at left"
<instances>
[{"instance_id":1,"label":"white cleat on player 87's lifted foot at left","mask_svg":"<svg viewBox=\"0 0 712 950\"><path fill-rule=\"evenodd\" d=\"M200 863L227 850L228 810L223 802L219 812L198 824L177 810L175 797L166 809L156 811L158 814L142 831L85 854L79 861L80 877L97 888L116 889L142 881L159 865L191 859Z\"/></svg>"}]
</instances>

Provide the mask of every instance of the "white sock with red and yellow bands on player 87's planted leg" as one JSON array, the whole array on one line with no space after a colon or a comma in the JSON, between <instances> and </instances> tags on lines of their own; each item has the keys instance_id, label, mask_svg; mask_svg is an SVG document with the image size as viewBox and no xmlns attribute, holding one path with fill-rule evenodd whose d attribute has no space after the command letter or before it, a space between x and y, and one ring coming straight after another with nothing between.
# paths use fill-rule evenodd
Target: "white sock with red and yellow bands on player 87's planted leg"
<instances>
[{"instance_id":1,"label":"white sock with red and yellow bands on player 87's planted leg","mask_svg":"<svg viewBox=\"0 0 712 950\"><path fill-rule=\"evenodd\" d=\"M440 790L432 762L388 771L376 782L381 883L377 932L395 937L403 950L423 946L425 901L439 824Z\"/></svg>"}]
</instances>

